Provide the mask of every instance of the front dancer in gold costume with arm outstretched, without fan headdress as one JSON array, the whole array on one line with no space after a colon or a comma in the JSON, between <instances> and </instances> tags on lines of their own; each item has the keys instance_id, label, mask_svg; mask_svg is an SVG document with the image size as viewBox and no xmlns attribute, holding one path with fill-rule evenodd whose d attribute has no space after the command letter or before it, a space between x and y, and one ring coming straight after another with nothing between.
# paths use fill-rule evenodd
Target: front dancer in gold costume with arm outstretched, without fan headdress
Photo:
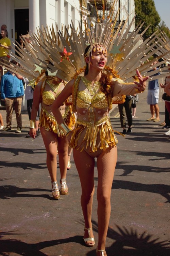
<instances>
[{"instance_id":1,"label":"front dancer in gold costume with arm outstretched, without fan headdress","mask_svg":"<svg viewBox=\"0 0 170 256\"><path fill-rule=\"evenodd\" d=\"M85 221L84 242L94 246L91 213L94 195L94 167L97 158L98 169L98 245L97 255L106 256L105 242L109 217L111 213L111 189L117 161L117 139L109 120L109 110L112 108L112 98L119 94L133 95L142 92L146 80L139 71L139 82L125 84L119 79L111 78L105 70L107 49L102 44L90 45L85 51L86 69L84 76L73 79L52 104L51 110L57 123L63 131L67 126L60 113L62 102L71 94L73 111L77 112L77 122L71 131L70 145L73 147L73 157L79 173L82 186L81 205ZM69 137L69 134L68 134Z\"/></svg>"}]
</instances>

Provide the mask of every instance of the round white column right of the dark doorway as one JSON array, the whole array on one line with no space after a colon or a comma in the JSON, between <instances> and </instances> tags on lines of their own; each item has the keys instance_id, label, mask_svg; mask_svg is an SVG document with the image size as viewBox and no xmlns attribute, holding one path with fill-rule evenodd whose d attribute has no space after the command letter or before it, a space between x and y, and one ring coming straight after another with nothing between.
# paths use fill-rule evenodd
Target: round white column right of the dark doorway
<instances>
[{"instance_id":1,"label":"round white column right of the dark doorway","mask_svg":"<svg viewBox=\"0 0 170 256\"><path fill-rule=\"evenodd\" d=\"M37 32L39 27L39 0L29 0L29 32Z\"/></svg>"}]
</instances>

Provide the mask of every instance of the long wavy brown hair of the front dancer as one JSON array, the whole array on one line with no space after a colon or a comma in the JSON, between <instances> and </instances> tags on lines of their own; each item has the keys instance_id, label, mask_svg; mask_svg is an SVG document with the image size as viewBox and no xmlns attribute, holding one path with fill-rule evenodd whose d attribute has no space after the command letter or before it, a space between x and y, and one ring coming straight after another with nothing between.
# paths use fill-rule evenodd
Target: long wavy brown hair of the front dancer
<instances>
[{"instance_id":1,"label":"long wavy brown hair of the front dancer","mask_svg":"<svg viewBox=\"0 0 170 256\"><path fill-rule=\"evenodd\" d=\"M91 45L88 45L84 51L84 57L87 56L87 52L89 50L89 48L91 47ZM90 52L91 54L91 52ZM89 54L89 56L90 56ZM86 67L85 67L85 71L84 71L84 75L87 75L89 72L88 69L88 63L86 63ZM101 78L100 78L100 83L101 83L101 88L100 90L105 94L105 95L109 95L111 93L111 86L109 86L111 84L111 78L110 75L108 74L108 72L102 72Z\"/></svg>"}]
</instances>

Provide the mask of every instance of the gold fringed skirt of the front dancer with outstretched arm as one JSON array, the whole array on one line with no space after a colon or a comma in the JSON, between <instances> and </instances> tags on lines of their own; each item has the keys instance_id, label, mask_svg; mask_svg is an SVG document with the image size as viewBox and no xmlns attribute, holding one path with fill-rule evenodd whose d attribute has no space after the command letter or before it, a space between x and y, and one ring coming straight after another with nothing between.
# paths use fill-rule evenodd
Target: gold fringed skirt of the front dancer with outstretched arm
<instances>
[{"instance_id":1,"label":"gold fringed skirt of the front dancer with outstretched arm","mask_svg":"<svg viewBox=\"0 0 170 256\"><path fill-rule=\"evenodd\" d=\"M70 146L78 150L81 148L81 152L84 149L89 152L96 152L98 148L106 150L118 143L108 116L96 122L95 126L77 119L74 130L70 133Z\"/></svg>"}]
</instances>

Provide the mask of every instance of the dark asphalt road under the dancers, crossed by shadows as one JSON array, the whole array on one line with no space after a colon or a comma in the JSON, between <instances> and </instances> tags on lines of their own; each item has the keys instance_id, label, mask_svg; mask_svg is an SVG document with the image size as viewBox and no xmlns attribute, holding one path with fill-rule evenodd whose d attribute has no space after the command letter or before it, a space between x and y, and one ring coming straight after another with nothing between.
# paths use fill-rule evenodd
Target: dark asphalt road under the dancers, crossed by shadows
<instances>
[{"instance_id":1,"label":"dark asphalt road under the dancers, crossed by shadows","mask_svg":"<svg viewBox=\"0 0 170 256\"><path fill-rule=\"evenodd\" d=\"M108 256L170 255L170 138L159 125L164 121L161 99L161 122L146 122L150 117L146 96L147 90L139 95L133 132L125 138L117 135ZM5 118L5 110L0 112ZM73 157L67 174L69 195L55 201L42 137L26 138L29 121L27 113L22 114L20 134L15 133L14 114L13 132L0 133L0 255L95 256L96 246L83 244L81 186ZM111 121L121 132L117 108ZM95 188L97 181L95 167ZM96 194L92 224L97 244Z\"/></svg>"}]
</instances>

